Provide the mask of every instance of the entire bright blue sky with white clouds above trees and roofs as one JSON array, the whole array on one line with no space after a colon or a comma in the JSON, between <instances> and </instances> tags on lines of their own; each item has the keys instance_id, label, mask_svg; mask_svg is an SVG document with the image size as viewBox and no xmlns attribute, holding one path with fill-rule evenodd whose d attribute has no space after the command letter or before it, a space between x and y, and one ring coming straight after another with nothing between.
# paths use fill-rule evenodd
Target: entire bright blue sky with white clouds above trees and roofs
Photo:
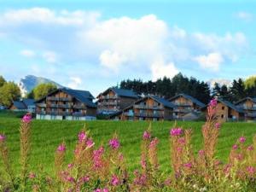
<instances>
[{"instance_id":1,"label":"entire bright blue sky with white clouds above trees and roofs","mask_svg":"<svg viewBox=\"0 0 256 192\"><path fill-rule=\"evenodd\" d=\"M207 2L207 3L206 3ZM256 1L0 0L0 75L93 95L123 79L256 75Z\"/></svg>"}]
</instances>

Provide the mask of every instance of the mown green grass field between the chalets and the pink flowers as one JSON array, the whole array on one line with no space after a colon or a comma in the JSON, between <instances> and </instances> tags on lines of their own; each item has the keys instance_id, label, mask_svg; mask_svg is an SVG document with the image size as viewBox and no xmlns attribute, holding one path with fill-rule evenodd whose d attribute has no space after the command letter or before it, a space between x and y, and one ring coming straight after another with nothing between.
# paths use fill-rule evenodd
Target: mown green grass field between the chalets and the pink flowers
<instances>
[{"instance_id":1,"label":"mown green grass field between the chalets and the pink flowers","mask_svg":"<svg viewBox=\"0 0 256 192\"><path fill-rule=\"evenodd\" d=\"M67 160L72 160L73 148L77 141L77 135L84 126L84 121L32 121L32 158L31 168L37 170L40 165L46 172L51 173L54 167L54 152L59 143L67 144ZM192 128L194 131L193 147L195 152L202 146L201 126L204 122L177 122L177 126ZM153 122L152 131L155 137L160 139L159 160L160 168L170 172L169 130L173 122ZM11 158L14 161L15 171L19 171L19 137L20 119L13 116L0 116L0 132L7 136ZM128 169L134 170L140 162L140 144L143 131L147 129L145 121L89 121L86 122L87 130L96 142L108 145L108 140L116 131L119 135L121 150L125 154ZM231 146L241 135L247 137L247 143L252 142L256 134L254 123L225 123L220 131L218 139L217 156L220 160L227 160Z\"/></svg>"}]
</instances>

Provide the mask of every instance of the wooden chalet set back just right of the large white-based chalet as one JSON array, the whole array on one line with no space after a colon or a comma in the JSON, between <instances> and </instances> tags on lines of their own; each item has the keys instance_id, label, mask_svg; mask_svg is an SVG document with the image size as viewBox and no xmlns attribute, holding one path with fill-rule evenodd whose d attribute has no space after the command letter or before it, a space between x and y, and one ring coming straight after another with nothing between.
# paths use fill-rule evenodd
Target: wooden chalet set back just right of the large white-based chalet
<instances>
[{"instance_id":1,"label":"wooden chalet set back just right of the large white-based chalet","mask_svg":"<svg viewBox=\"0 0 256 192\"><path fill-rule=\"evenodd\" d=\"M97 96L98 113L117 113L137 101L138 96L132 90L110 88Z\"/></svg>"}]
</instances>

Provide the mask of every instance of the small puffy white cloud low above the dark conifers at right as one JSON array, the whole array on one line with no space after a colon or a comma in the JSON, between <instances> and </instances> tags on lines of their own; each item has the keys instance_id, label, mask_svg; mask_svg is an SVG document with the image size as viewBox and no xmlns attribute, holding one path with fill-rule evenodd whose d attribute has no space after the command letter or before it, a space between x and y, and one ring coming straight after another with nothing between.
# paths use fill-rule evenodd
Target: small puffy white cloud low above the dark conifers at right
<instances>
[{"instance_id":1,"label":"small puffy white cloud low above the dark conifers at right","mask_svg":"<svg viewBox=\"0 0 256 192\"><path fill-rule=\"evenodd\" d=\"M195 61L197 61L202 68L211 69L212 71L217 72L224 59L219 53L210 53L208 55L196 56Z\"/></svg>"}]
</instances>

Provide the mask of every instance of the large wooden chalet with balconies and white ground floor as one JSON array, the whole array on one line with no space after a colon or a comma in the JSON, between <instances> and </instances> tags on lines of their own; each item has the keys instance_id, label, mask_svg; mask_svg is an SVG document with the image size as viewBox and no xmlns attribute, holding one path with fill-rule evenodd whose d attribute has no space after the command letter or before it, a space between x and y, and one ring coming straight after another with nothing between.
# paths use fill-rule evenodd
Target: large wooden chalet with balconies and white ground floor
<instances>
[{"instance_id":1,"label":"large wooden chalet with balconies and white ground floor","mask_svg":"<svg viewBox=\"0 0 256 192\"><path fill-rule=\"evenodd\" d=\"M37 119L96 119L90 92L58 89L36 102Z\"/></svg>"}]
</instances>

